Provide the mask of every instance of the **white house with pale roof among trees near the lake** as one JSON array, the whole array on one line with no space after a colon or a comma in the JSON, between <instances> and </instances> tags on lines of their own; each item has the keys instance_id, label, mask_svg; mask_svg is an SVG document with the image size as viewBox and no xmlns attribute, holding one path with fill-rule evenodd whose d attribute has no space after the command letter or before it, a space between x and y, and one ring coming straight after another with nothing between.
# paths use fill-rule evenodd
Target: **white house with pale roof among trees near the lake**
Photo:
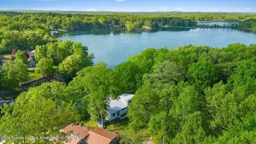
<instances>
[{"instance_id":1,"label":"white house with pale roof among trees near the lake","mask_svg":"<svg viewBox=\"0 0 256 144\"><path fill-rule=\"evenodd\" d=\"M111 100L107 110L106 120L114 120L126 116L128 104L131 104L134 94L122 94L118 100Z\"/></svg>"}]
</instances>

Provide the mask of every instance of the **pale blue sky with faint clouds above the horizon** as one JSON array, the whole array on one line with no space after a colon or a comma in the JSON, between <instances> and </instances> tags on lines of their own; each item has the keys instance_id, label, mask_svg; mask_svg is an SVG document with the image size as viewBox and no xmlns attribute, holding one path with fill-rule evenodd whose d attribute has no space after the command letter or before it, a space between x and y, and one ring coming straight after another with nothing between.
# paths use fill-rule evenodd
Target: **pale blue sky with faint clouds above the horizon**
<instances>
[{"instance_id":1,"label":"pale blue sky with faint clouds above the horizon","mask_svg":"<svg viewBox=\"0 0 256 144\"><path fill-rule=\"evenodd\" d=\"M256 12L256 0L0 0L0 10Z\"/></svg>"}]
</instances>

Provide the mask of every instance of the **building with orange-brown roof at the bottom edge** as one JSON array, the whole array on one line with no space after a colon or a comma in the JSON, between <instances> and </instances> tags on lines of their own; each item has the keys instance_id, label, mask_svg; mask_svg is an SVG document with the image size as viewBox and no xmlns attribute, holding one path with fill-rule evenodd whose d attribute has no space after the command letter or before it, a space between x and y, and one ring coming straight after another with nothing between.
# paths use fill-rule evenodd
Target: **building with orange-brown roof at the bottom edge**
<instances>
[{"instance_id":1,"label":"building with orange-brown roof at the bottom edge","mask_svg":"<svg viewBox=\"0 0 256 144\"><path fill-rule=\"evenodd\" d=\"M70 124L60 131L68 132L70 130L73 130L73 134L68 137L71 138L71 141L64 144L117 144L118 134L102 128L96 127L88 131L80 126Z\"/></svg>"}]
</instances>

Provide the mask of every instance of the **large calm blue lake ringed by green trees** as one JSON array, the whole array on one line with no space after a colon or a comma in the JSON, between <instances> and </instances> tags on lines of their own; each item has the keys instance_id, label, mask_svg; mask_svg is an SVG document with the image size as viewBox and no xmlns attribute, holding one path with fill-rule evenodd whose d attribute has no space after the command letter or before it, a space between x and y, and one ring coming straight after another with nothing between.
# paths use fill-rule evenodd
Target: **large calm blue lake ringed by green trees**
<instances>
[{"instance_id":1,"label":"large calm blue lake ringed by green trees","mask_svg":"<svg viewBox=\"0 0 256 144\"><path fill-rule=\"evenodd\" d=\"M245 45L256 43L255 32L213 28L158 28L135 31L96 29L56 34L53 37L82 42L83 46L88 46L89 53L94 53L94 63L102 61L108 64L109 68L114 68L117 64L125 62L128 57L140 54L147 48L178 48L179 44L222 48L236 42Z\"/></svg>"}]
</instances>

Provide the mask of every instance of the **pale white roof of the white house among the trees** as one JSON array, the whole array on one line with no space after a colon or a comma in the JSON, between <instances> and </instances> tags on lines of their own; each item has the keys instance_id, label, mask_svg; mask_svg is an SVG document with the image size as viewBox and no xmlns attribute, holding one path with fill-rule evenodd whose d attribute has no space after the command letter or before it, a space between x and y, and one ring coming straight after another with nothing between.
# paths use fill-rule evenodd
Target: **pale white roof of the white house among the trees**
<instances>
[{"instance_id":1,"label":"pale white roof of the white house among the trees","mask_svg":"<svg viewBox=\"0 0 256 144\"><path fill-rule=\"evenodd\" d=\"M118 96L120 99L111 100L109 103L108 112L113 114L127 107L128 100L131 100L134 94L122 94Z\"/></svg>"}]
</instances>

